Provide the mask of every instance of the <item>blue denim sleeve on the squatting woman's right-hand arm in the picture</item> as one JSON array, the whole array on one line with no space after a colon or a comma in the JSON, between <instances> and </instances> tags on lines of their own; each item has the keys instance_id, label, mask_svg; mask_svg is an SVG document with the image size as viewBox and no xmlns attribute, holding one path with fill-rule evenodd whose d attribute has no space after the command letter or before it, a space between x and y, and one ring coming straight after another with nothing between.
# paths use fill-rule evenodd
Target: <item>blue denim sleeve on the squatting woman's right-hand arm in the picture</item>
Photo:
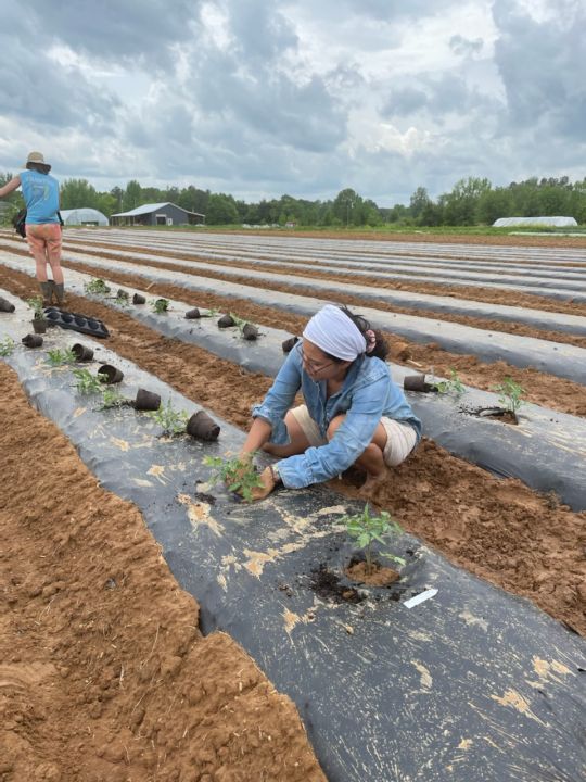
<instances>
[{"instance_id":1,"label":"blue denim sleeve on the squatting woman's right-hand arm in the picture","mask_svg":"<svg viewBox=\"0 0 586 782\"><path fill-rule=\"evenodd\" d=\"M279 475L285 487L301 489L322 483L343 472L362 455L383 417L385 382L381 378L355 393L344 421L329 443L279 462Z\"/></svg>"}]
</instances>

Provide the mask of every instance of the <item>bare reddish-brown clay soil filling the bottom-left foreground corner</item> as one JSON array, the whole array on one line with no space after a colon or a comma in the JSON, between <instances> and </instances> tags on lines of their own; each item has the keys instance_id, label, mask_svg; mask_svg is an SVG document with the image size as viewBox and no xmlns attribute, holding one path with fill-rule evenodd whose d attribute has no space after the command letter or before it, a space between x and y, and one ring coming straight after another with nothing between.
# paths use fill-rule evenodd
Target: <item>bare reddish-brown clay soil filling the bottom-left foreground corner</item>
<instances>
[{"instance_id":1,"label":"bare reddish-brown clay soil filling the bottom-left foreground corner","mask_svg":"<svg viewBox=\"0 0 586 782\"><path fill-rule=\"evenodd\" d=\"M138 509L2 363L0 393L0 780L324 782L291 701L202 636Z\"/></svg>"}]
</instances>

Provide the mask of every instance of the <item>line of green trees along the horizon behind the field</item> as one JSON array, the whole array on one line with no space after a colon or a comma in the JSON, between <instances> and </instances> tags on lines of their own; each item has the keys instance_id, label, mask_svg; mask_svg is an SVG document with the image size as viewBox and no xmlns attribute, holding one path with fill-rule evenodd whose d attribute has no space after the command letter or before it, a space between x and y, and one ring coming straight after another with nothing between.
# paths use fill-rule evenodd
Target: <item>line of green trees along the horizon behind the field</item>
<instances>
[{"instance_id":1,"label":"line of green trees along the horizon behind the field","mask_svg":"<svg viewBox=\"0 0 586 782\"><path fill-rule=\"evenodd\" d=\"M12 174L0 174L0 186ZM14 207L22 203L18 193L8 199ZM131 180L126 188L99 192L87 179L65 179L61 186L63 210L97 209L106 217L146 203L170 201L189 212L205 215L207 225L285 225L360 227L395 224L399 226L492 225L498 217L537 217L563 215L586 224L586 178L571 182L569 177L533 177L505 187L493 187L488 179L460 179L450 192L437 199L418 187L409 205L380 207L352 188L341 190L333 200L309 201L293 195L246 203L226 193L212 193L190 185L165 189L142 187Z\"/></svg>"}]
</instances>

